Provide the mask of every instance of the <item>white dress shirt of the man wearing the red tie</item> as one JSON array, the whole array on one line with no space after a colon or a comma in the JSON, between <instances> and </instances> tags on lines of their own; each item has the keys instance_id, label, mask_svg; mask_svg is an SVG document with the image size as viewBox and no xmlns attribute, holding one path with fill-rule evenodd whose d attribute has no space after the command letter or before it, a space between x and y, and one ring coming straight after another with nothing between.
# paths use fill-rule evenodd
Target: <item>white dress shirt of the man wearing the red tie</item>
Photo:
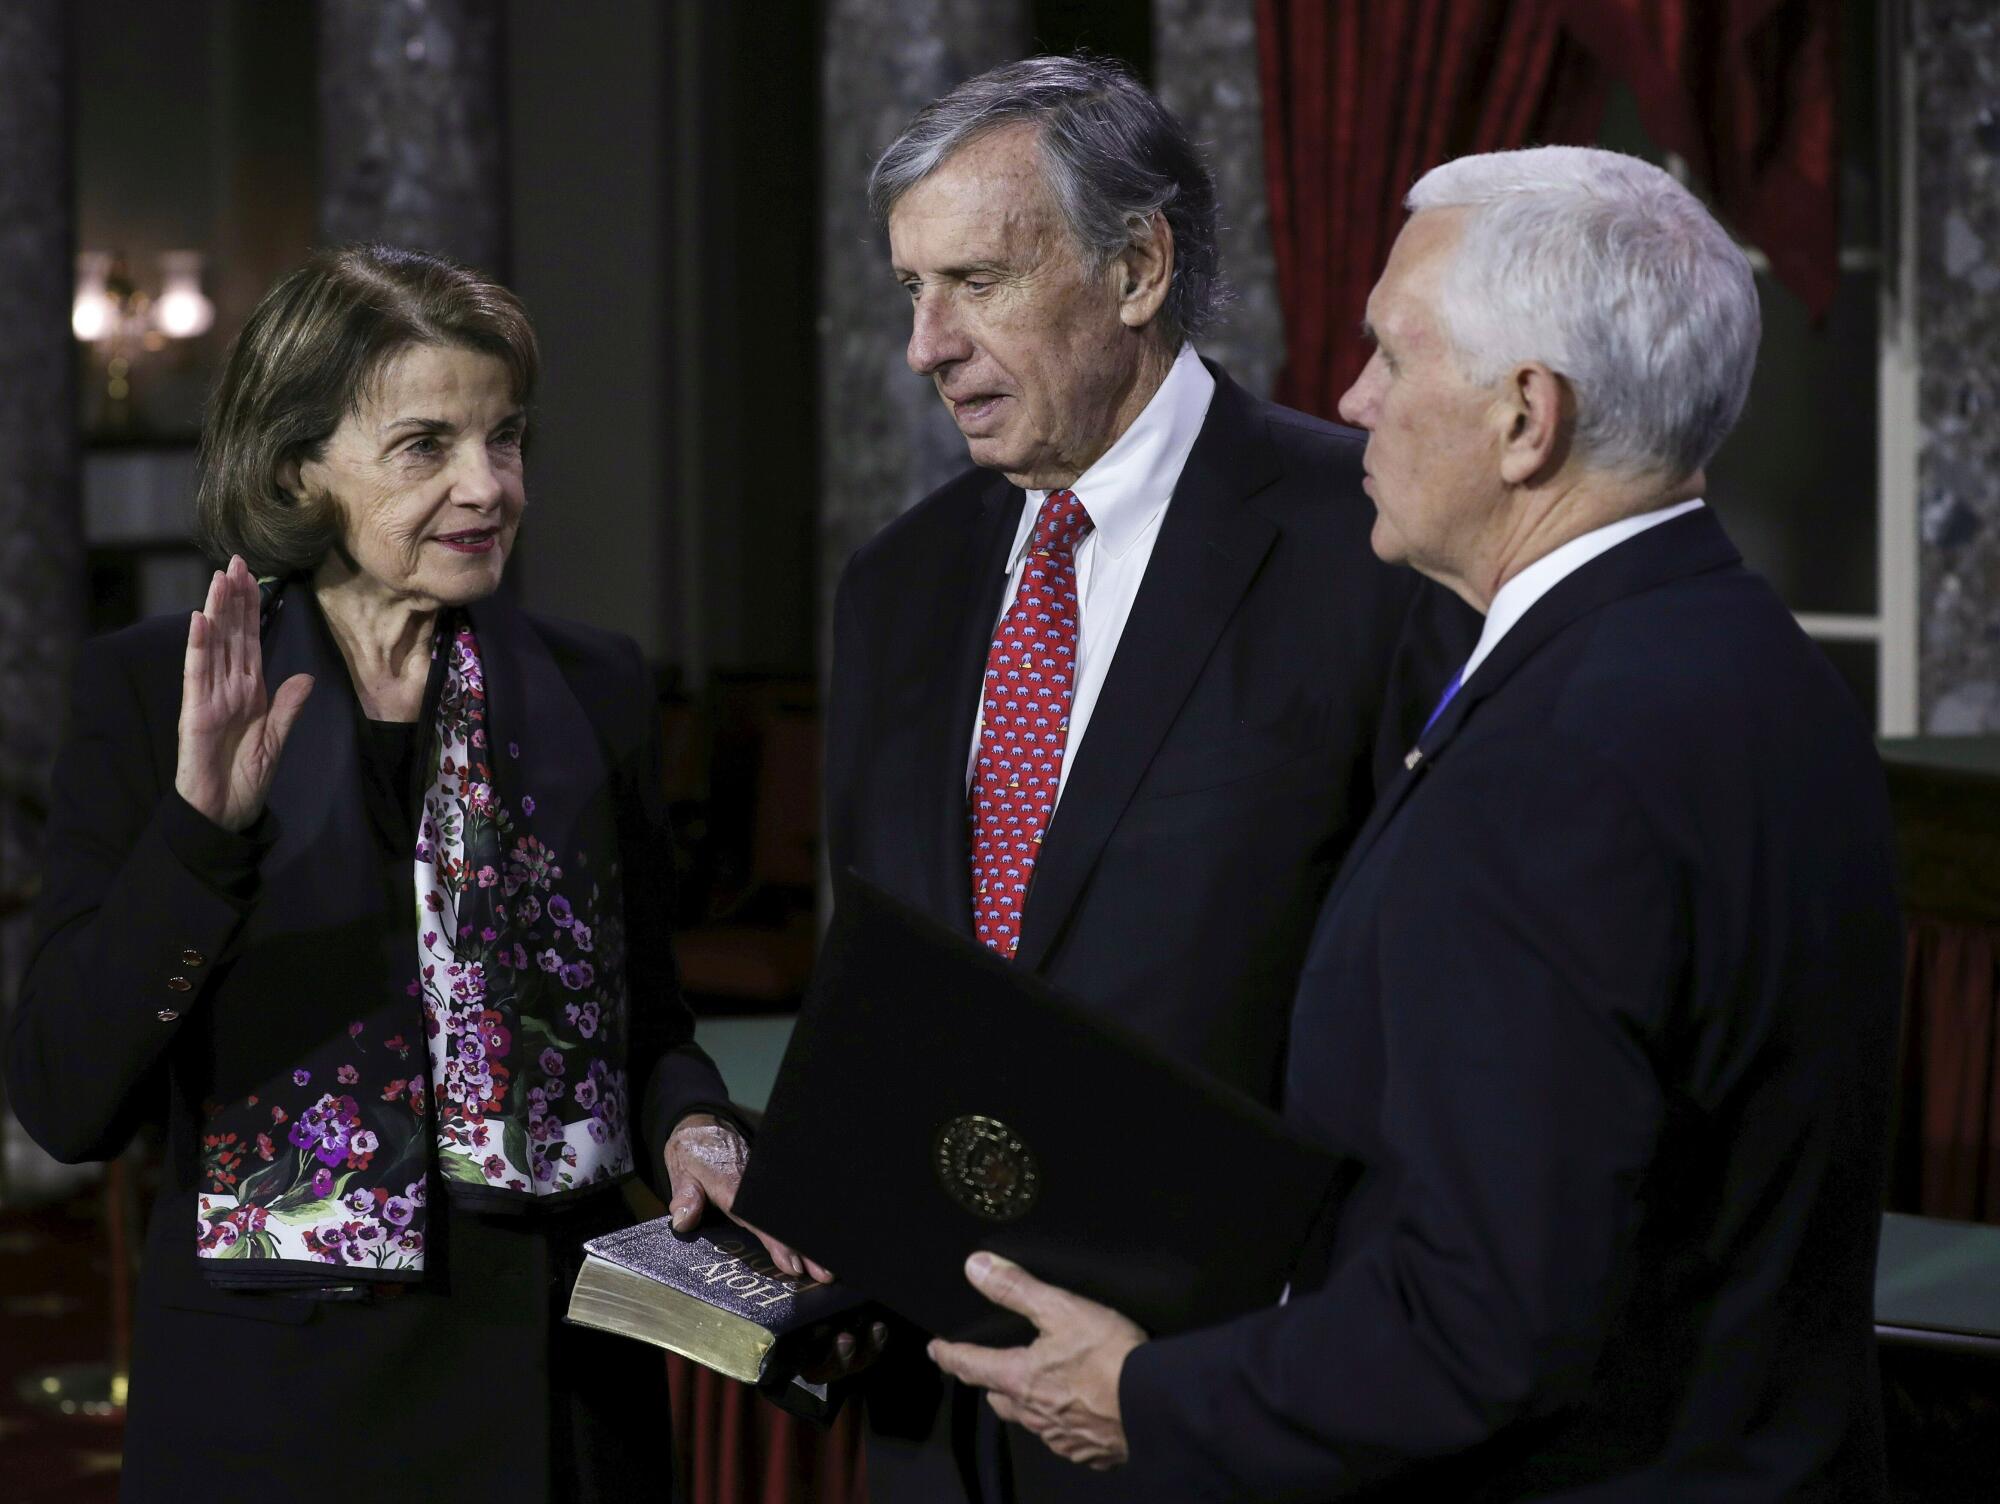
<instances>
[{"instance_id":1,"label":"white dress shirt of the man wearing the red tie","mask_svg":"<svg viewBox=\"0 0 2000 1504\"><path fill-rule=\"evenodd\" d=\"M1090 710L1118 654L1118 638L1124 636L1140 580L1146 578L1146 560L1152 558L1152 544L1160 536L1166 504L1174 500L1174 486L1180 484L1180 472L1188 464L1194 440L1200 438L1214 394L1216 378L1194 354L1194 346L1180 346L1166 380L1132 426L1068 486L1090 514L1090 532L1076 544L1076 690L1070 700L1070 740L1062 748L1058 802L1070 782L1076 748L1084 744L1084 732L1090 728ZM1006 562L1006 598L1000 602L1000 616L994 618L996 626L1014 606L1014 592L1020 590L1020 576L1028 568L1034 518L1046 498L1046 490L1030 490L1020 508L1020 526L1014 530L1014 548ZM982 726L984 718L972 722L966 788L972 786L978 764Z\"/></svg>"}]
</instances>

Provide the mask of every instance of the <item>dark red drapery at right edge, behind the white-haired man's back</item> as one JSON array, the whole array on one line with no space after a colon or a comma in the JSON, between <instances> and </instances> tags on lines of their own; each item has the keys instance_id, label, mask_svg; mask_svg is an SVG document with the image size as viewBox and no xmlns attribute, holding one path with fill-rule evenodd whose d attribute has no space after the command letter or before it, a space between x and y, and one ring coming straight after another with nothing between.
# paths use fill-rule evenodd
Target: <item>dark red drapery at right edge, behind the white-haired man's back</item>
<instances>
[{"instance_id":1,"label":"dark red drapery at right edge, behind the white-haired man's back","mask_svg":"<svg viewBox=\"0 0 2000 1504\"><path fill-rule=\"evenodd\" d=\"M2000 928L1914 914L1890 1204L2000 1222Z\"/></svg>"}]
</instances>

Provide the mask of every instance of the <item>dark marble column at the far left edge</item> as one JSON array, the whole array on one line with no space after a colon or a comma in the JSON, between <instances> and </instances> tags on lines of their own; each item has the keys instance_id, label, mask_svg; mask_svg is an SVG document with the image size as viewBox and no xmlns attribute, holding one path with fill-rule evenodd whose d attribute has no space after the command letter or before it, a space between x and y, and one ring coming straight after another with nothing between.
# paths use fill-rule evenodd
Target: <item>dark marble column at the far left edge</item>
<instances>
[{"instance_id":1,"label":"dark marble column at the far left edge","mask_svg":"<svg viewBox=\"0 0 2000 1504\"><path fill-rule=\"evenodd\" d=\"M68 0L0 6L0 914L40 872L84 628L70 78ZM0 1014L26 942L26 914L0 918Z\"/></svg>"}]
</instances>

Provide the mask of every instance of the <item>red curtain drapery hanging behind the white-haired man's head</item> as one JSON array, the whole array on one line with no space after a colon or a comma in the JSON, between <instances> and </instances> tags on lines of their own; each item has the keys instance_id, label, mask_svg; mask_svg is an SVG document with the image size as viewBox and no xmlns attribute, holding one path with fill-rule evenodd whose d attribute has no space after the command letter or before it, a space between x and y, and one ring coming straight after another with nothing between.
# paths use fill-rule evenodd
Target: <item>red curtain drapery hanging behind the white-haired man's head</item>
<instances>
[{"instance_id":1,"label":"red curtain drapery hanging behind the white-haired man's head","mask_svg":"<svg viewBox=\"0 0 2000 1504\"><path fill-rule=\"evenodd\" d=\"M1838 278L1836 0L1258 0L1278 400L1334 416L1426 170L1588 144L1610 82L1812 312Z\"/></svg>"}]
</instances>

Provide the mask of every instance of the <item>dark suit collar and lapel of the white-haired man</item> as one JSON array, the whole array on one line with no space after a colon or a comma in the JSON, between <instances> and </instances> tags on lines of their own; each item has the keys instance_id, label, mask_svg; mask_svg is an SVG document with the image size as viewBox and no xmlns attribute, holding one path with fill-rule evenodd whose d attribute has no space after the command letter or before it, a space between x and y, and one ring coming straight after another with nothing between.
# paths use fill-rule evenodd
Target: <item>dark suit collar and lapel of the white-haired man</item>
<instances>
[{"instance_id":1,"label":"dark suit collar and lapel of the white-haired man","mask_svg":"<svg viewBox=\"0 0 2000 1504\"><path fill-rule=\"evenodd\" d=\"M1348 880L1368 856L1368 848L1396 818L1410 790L1430 772L1438 754L1458 736L1460 728L1526 664L1544 642L1582 616L1614 600L1642 594L1672 580L1684 580L1708 570L1740 564L1742 556L1722 532L1710 508L1688 512L1672 522L1648 528L1636 538L1598 554L1574 574L1564 576L1528 612L1492 654L1478 666L1466 686L1452 696L1444 714L1426 730L1408 756L1402 772L1382 790L1368 820L1348 846L1340 876L1326 900L1326 910L1340 900Z\"/></svg>"}]
</instances>

